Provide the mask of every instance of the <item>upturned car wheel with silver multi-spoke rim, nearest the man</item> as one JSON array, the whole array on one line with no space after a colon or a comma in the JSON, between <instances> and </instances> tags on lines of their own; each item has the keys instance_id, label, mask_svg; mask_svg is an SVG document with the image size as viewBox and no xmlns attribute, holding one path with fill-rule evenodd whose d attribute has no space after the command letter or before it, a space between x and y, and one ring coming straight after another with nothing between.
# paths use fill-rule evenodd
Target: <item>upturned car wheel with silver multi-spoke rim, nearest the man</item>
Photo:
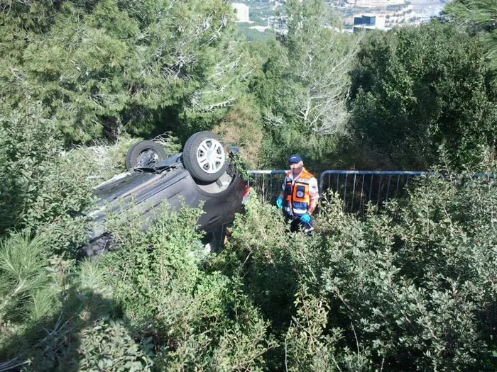
<instances>
[{"instance_id":1,"label":"upturned car wheel with silver multi-spoke rim, nearest the man","mask_svg":"<svg viewBox=\"0 0 497 372\"><path fill-rule=\"evenodd\" d=\"M209 131L198 132L188 138L182 160L193 179L201 182L216 181L228 165L223 143L218 135Z\"/></svg>"}]
</instances>

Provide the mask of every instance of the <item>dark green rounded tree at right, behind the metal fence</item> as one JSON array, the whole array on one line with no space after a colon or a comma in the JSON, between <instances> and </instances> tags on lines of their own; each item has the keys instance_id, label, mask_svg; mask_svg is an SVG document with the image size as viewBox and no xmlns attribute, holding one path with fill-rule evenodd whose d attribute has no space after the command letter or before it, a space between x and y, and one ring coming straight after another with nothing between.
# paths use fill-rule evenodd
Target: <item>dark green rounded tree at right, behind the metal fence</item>
<instances>
[{"instance_id":1,"label":"dark green rounded tree at right, behind the metal fence","mask_svg":"<svg viewBox=\"0 0 497 372\"><path fill-rule=\"evenodd\" d=\"M484 47L452 24L374 33L354 71L351 124L399 167L425 169L444 145L475 167L495 149L496 97Z\"/></svg>"}]
</instances>

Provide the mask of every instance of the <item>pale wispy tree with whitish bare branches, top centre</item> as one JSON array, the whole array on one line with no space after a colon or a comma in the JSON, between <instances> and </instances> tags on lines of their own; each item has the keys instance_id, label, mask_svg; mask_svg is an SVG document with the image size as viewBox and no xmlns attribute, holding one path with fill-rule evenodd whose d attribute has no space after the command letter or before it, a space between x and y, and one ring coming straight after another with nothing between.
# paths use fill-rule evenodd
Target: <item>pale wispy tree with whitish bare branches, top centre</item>
<instances>
[{"instance_id":1,"label":"pale wispy tree with whitish bare branches, top centre","mask_svg":"<svg viewBox=\"0 0 497 372\"><path fill-rule=\"evenodd\" d=\"M323 1L290 0L286 10L288 35L282 38L281 55L265 66L265 118L275 125L335 133L347 119L347 73L356 47L351 37L335 30L334 15Z\"/></svg>"}]
</instances>

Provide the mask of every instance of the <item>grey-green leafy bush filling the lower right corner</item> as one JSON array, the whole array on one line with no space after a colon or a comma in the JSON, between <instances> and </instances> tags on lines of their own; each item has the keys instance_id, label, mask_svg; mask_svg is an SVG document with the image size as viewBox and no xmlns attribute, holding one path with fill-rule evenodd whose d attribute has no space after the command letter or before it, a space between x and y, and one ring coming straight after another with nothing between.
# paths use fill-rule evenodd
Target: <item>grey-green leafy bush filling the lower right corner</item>
<instances>
[{"instance_id":1,"label":"grey-green leafy bush filling the lower right corner","mask_svg":"<svg viewBox=\"0 0 497 372\"><path fill-rule=\"evenodd\" d=\"M324 208L324 244L309 252L319 264L305 283L334 310L332 324L354 325L376 365L481 370L495 363L495 187L469 176L432 177L407 201L365 220L341 217L339 203Z\"/></svg>"}]
</instances>

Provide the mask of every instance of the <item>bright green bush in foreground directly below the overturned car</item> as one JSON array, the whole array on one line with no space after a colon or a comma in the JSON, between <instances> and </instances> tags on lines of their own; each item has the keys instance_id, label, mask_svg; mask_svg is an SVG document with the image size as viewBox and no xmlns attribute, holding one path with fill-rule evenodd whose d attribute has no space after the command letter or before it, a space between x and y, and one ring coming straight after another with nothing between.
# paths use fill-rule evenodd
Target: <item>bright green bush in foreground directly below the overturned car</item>
<instances>
[{"instance_id":1,"label":"bright green bush in foreground directly below the overturned car","mask_svg":"<svg viewBox=\"0 0 497 372\"><path fill-rule=\"evenodd\" d=\"M165 206L146 232L133 217L114 226L119 250L103 257L114 302L152 337L159 370L258 370L273 347L268 324L236 276L200 269L207 254L195 230L200 213Z\"/></svg>"}]
</instances>

